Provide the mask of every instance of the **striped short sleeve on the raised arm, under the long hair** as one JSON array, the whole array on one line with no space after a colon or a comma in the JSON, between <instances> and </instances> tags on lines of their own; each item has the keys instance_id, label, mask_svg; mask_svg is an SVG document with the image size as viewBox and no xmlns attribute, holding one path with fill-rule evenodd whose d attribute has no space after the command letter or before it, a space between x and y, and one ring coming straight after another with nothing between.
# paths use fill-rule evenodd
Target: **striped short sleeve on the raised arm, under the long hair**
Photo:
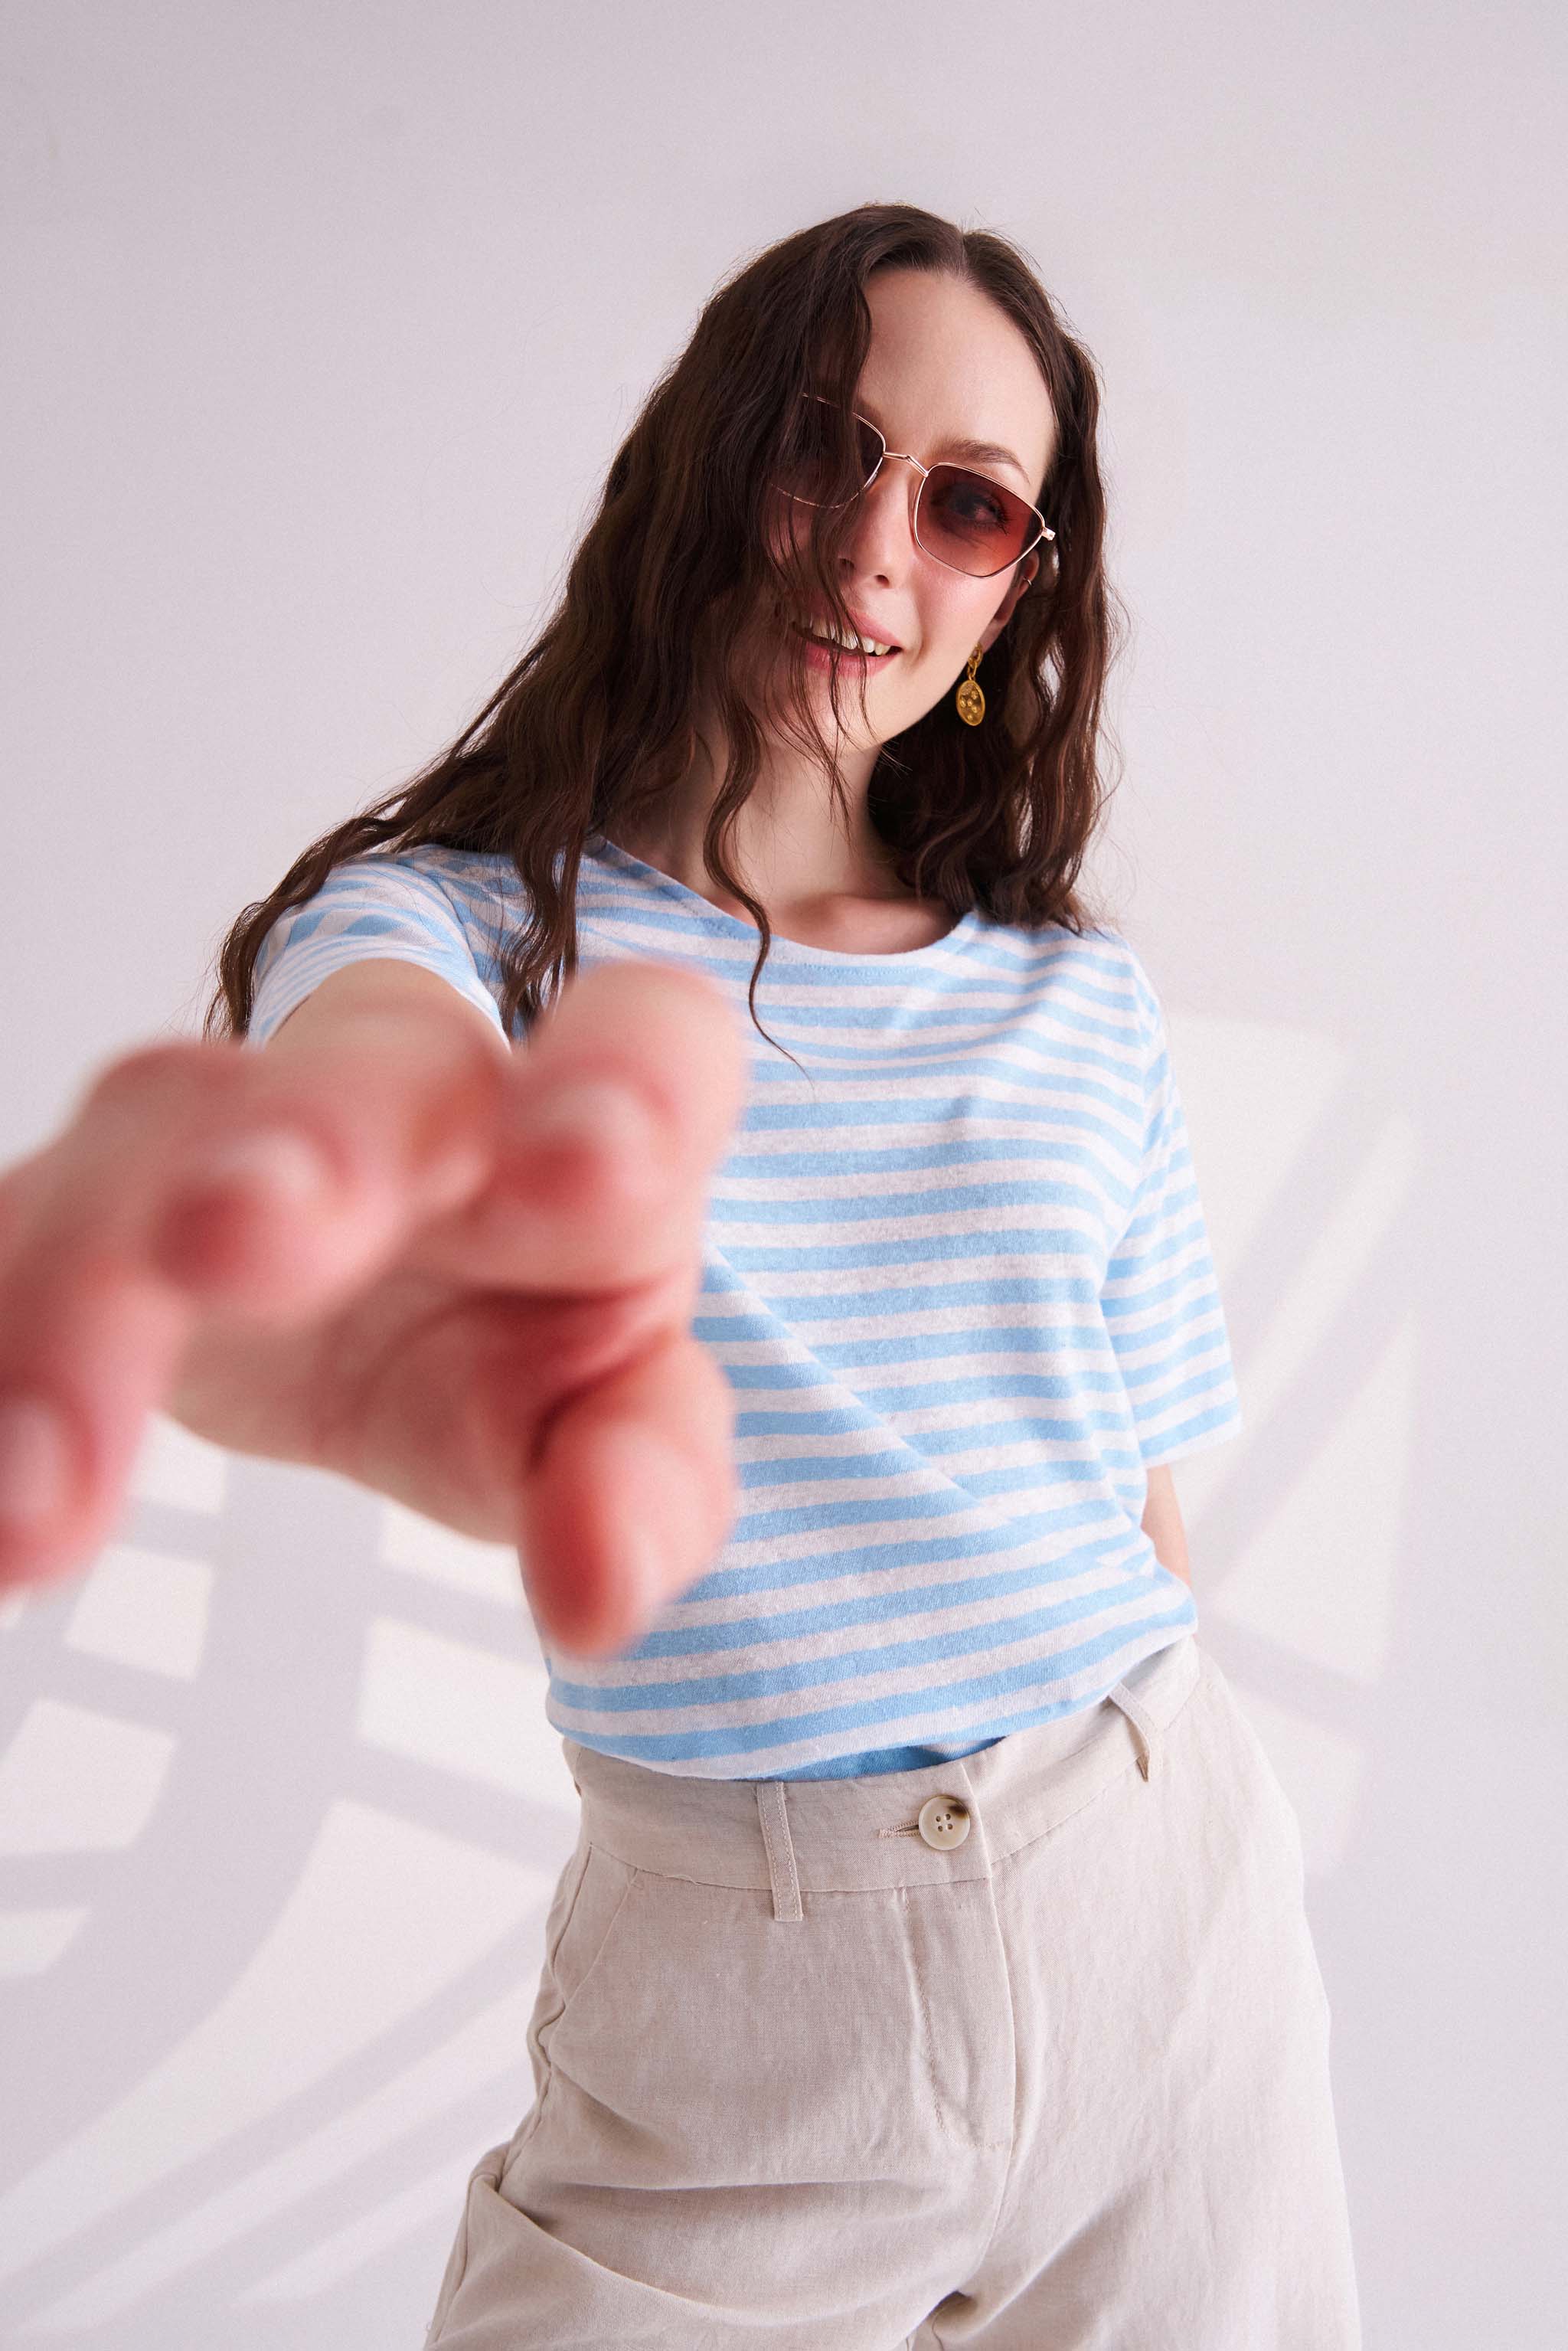
<instances>
[{"instance_id":1,"label":"striped short sleeve on the raised arm, under the long hair","mask_svg":"<svg viewBox=\"0 0 1568 2351\"><path fill-rule=\"evenodd\" d=\"M315 898L280 915L261 940L242 1041L263 1046L329 971L388 955L451 980L505 1034L501 1006L480 971L484 943L470 924L473 917L465 924L454 896L416 863L416 853L346 858Z\"/></svg>"}]
</instances>

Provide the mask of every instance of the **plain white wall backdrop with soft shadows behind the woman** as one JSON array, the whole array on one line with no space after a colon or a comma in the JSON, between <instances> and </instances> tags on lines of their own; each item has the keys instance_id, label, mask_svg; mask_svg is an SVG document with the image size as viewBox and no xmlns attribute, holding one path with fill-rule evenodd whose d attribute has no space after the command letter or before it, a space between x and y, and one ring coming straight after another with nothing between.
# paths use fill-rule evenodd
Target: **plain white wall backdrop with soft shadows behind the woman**
<instances>
[{"instance_id":1,"label":"plain white wall backdrop with soft shadows behind the woman","mask_svg":"<svg viewBox=\"0 0 1568 2351\"><path fill-rule=\"evenodd\" d=\"M1561 2342L1561 12L0 28L7 1161L473 715L741 254L867 197L1030 249L1105 374L1098 877L1248 1415L1178 1491L1302 1817L1368 2346ZM5 1608L16 2342L418 2346L529 2102L541 1690L508 1554L169 1422Z\"/></svg>"}]
</instances>

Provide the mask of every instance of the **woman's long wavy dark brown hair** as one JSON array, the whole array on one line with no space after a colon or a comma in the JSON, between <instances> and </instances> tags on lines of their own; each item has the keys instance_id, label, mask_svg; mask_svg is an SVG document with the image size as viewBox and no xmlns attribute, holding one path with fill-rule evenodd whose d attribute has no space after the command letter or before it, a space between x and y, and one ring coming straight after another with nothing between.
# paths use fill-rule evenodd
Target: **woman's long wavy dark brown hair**
<instances>
[{"instance_id":1,"label":"woman's long wavy dark brown hair","mask_svg":"<svg viewBox=\"0 0 1568 2351\"><path fill-rule=\"evenodd\" d=\"M1105 578L1095 364L1006 237L914 205L860 205L719 284L616 449L543 632L456 743L324 832L270 898L244 907L219 950L207 1037L247 1032L266 933L334 865L425 844L512 860L527 919L501 947L501 1018L508 1034L527 1027L576 971L585 846L614 839L623 820L635 830L686 773L701 710L717 717L729 759L703 856L762 933L748 990L757 1020L771 926L726 849L769 731L816 748L839 804L844 785L813 717L804 639L778 630L783 658L771 686L764 672L755 689L748 628L799 609L851 625L835 555L853 508L809 508L785 534L795 543L780 545L776 482L788 477L802 393L853 407L872 331L865 284L891 268L969 280L1030 343L1056 418L1037 491L1056 541L1041 543L1041 569L985 656L985 724L966 726L943 696L882 745L867 813L898 879L954 917L980 907L992 922L1079 933L1095 919L1079 872L1110 792L1103 696L1126 635ZM837 672L832 710L837 724Z\"/></svg>"}]
</instances>

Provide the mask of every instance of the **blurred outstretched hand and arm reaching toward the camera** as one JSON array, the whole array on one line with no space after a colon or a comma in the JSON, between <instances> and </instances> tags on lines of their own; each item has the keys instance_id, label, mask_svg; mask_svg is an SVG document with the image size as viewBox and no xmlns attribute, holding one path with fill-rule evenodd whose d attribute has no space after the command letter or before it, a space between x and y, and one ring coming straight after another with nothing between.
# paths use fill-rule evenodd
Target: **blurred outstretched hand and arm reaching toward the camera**
<instances>
[{"instance_id":1,"label":"blurred outstretched hand and arm reaching toward the camera","mask_svg":"<svg viewBox=\"0 0 1568 2351\"><path fill-rule=\"evenodd\" d=\"M625 1648L733 1521L689 1321L743 1091L719 990L632 962L524 1046L376 959L261 1053L110 1063L0 1178L0 1585L103 1547L165 1411L515 1542L550 1646Z\"/></svg>"}]
</instances>

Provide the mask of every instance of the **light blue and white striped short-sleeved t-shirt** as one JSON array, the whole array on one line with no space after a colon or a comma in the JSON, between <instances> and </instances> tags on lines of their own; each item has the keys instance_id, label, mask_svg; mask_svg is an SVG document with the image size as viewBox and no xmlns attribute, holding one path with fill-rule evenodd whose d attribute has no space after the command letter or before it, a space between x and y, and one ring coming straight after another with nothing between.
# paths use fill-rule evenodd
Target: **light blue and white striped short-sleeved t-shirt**
<instances>
[{"instance_id":1,"label":"light blue and white striped short-sleeved t-shirt","mask_svg":"<svg viewBox=\"0 0 1568 2351\"><path fill-rule=\"evenodd\" d=\"M914 1770L1095 1704L1194 1629L1145 1472L1241 1427L1187 1121L1121 933L980 912L905 955L773 938L595 837L578 969L701 966L750 1039L696 1335L738 1514L630 1650L550 1650L550 1723L701 1780ZM503 856L369 853L280 917L249 1041L341 964L440 971L501 1030ZM517 1030L515 1034L522 1034ZM797 1067L799 1065L799 1067Z\"/></svg>"}]
</instances>

